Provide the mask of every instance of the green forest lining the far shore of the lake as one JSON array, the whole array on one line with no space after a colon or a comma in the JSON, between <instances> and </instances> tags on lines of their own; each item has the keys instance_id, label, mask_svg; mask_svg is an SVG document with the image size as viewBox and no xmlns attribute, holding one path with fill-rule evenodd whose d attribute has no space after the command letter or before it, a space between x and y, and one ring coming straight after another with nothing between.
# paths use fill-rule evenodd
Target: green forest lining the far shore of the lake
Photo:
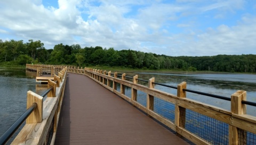
<instances>
[{"instance_id":1,"label":"green forest lining the far shore of the lake","mask_svg":"<svg viewBox=\"0 0 256 145\"><path fill-rule=\"evenodd\" d=\"M24 43L22 40L3 42L0 39L0 65L76 65L83 67L106 66L136 69L171 69L184 71L222 71L255 73L256 55L216 55L205 57L171 57L134 50L103 49L101 46L84 47L79 44L55 45L46 50L41 41Z\"/></svg>"}]
</instances>

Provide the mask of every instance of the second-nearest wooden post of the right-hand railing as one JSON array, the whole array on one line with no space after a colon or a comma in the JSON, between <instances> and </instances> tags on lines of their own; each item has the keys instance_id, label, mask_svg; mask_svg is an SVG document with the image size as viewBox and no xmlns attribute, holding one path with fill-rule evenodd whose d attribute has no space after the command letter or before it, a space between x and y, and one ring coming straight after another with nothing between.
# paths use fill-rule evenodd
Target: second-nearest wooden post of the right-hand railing
<instances>
[{"instance_id":1,"label":"second-nearest wooden post of the right-hand railing","mask_svg":"<svg viewBox=\"0 0 256 145\"><path fill-rule=\"evenodd\" d=\"M186 91L183 91L183 88L187 88L187 83L182 82L178 85L177 89L177 96L179 98L186 98ZM186 123L186 108L180 107L177 104L175 104L175 120L174 124L177 127L185 128ZM176 133L176 135L181 136L179 133Z\"/></svg>"}]
</instances>

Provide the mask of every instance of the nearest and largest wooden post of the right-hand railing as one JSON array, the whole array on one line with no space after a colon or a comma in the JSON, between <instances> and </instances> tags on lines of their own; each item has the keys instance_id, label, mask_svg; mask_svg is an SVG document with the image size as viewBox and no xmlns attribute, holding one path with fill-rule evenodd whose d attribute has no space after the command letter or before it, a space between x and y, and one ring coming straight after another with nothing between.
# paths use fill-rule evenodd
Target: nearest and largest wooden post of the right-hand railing
<instances>
[{"instance_id":1,"label":"nearest and largest wooden post of the right-hand railing","mask_svg":"<svg viewBox=\"0 0 256 145\"><path fill-rule=\"evenodd\" d=\"M246 114L246 104L242 104L242 100L246 101L246 91L236 91L231 95L231 112L233 114ZM233 118L231 118L233 120ZM233 123L233 122L231 122ZM229 125L229 144L246 144L247 132Z\"/></svg>"}]
</instances>

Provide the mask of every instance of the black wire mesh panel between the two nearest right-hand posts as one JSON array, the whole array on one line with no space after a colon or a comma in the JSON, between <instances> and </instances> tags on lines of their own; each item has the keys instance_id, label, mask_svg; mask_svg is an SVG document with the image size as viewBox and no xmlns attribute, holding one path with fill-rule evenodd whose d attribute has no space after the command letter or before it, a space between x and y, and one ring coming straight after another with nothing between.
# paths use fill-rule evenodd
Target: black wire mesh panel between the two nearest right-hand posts
<instances>
[{"instance_id":1,"label":"black wire mesh panel between the two nearest right-hand posts","mask_svg":"<svg viewBox=\"0 0 256 145\"><path fill-rule=\"evenodd\" d=\"M181 118L186 118L186 130L211 144L228 144L228 124L189 109L185 114L184 111L180 112Z\"/></svg>"}]
</instances>

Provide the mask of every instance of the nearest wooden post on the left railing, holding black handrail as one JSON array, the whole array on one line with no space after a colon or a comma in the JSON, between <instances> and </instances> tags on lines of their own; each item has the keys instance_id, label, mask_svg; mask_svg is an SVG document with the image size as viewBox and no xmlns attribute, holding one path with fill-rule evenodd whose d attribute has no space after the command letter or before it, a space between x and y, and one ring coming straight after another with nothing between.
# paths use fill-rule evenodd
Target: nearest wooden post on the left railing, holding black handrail
<instances>
[{"instance_id":1,"label":"nearest wooden post on the left railing, holding black handrail","mask_svg":"<svg viewBox=\"0 0 256 145\"><path fill-rule=\"evenodd\" d=\"M27 109L33 104L36 103L37 107L26 119L27 124L31 123L41 123L43 120L43 97L32 91L27 92Z\"/></svg>"}]
</instances>

